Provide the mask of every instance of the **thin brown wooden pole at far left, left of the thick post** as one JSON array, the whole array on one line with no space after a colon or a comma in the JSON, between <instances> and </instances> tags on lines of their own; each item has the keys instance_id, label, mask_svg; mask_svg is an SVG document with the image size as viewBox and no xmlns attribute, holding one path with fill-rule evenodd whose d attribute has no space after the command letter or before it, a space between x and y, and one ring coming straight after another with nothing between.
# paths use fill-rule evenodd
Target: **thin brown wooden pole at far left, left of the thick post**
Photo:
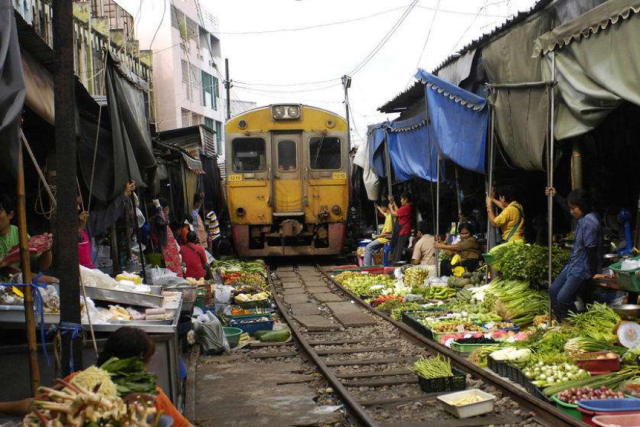
<instances>
[{"instance_id":1,"label":"thin brown wooden pole at far left, left of the thick post","mask_svg":"<svg viewBox=\"0 0 640 427\"><path fill-rule=\"evenodd\" d=\"M23 283L31 283L31 258L29 256L29 237L27 235L27 209L25 207L24 160L22 139L18 146L18 234L20 237L20 268ZM31 396L35 397L40 387L40 367L38 366L38 341L36 339L36 321L33 313L33 290L25 286L24 317L27 328L27 348L29 354L29 375L31 377Z\"/></svg>"}]
</instances>

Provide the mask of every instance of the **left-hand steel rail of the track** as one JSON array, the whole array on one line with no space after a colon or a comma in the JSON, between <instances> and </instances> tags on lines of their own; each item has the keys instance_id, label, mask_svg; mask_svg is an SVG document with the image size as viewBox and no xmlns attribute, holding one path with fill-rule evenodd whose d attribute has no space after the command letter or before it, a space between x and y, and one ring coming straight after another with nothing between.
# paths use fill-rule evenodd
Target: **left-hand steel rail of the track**
<instances>
[{"instance_id":1,"label":"left-hand steel rail of the track","mask_svg":"<svg viewBox=\"0 0 640 427\"><path fill-rule=\"evenodd\" d=\"M298 273L300 276L300 273ZM302 277L302 276L300 276ZM316 364L322 375L329 381L331 386L335 391L338 392L343 402L347 404L347 406L353 411L356 417L363 423L363 425L367 427L379 427L380 424L374 420L371 415L367 413L367 410L364 406L360 405L354 397L349 393L347 388L342 385L342 382L338 377L331 371L331 369L324 363L322 358L316 353L315 349L307 342L307 340L302 336L300 330L295 326L293 322L293 318L287 312L287 308L284 303L280 300L275 292L275 288L271 281L271 274L268 275L269 287L271 288L271 295L273 296L276 305L278 306L278 310L284 317L285 321L289 325L291 329L291 333L298 341L298 343L302 346L304 352L313 360L313 363ZM331 331L327 331L327 333L331 333Z\"/></svg>"}]
</instances>

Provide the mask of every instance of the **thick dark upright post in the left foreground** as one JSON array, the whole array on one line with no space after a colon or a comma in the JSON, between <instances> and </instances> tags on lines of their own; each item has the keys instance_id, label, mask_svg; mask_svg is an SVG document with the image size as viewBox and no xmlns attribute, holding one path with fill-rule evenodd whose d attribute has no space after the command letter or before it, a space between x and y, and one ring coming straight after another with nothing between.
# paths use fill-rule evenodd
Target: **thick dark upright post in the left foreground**
<instances>
[{"instance_id":1,"label":"thick dark upright post in the left foreground","mask_svg":"<svg viewBox=\"0 0 640 427\"><path fill-rule=\"evenodd\" d=\"M78 269L78 212L76 210L76 96L73 69L73 2L53 2L53 84L55 93L55 147L57 212L54 233L55 273L60 279L60 323L80 325ZM73 360L72 360L73 357ZM62 334L62 376L71 366L82 369L82 339Z\"/></svg>"}]
</instances>

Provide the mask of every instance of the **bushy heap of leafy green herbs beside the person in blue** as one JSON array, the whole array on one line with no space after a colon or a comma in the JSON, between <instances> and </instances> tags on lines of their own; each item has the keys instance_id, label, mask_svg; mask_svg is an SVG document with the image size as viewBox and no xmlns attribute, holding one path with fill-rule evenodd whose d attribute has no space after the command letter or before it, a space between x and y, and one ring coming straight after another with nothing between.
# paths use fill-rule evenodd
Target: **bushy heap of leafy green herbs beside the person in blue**
<instances>
[{"instance_id":1,"label":"bushy heap of leafy green herbs beside the person in blue","mask_svg":"<svg viewBox=\"0 0 640 427\"><path fill-rule=\"evenodd\" d=\"M492 267L502 272L505 280L528 282L533 287L548 282L549 249L547 247L510 243L494 248L491 254L494 255ZM554 247L552 277L557 277L568 261L569 251Z\"/></svg>"}]
</instances>

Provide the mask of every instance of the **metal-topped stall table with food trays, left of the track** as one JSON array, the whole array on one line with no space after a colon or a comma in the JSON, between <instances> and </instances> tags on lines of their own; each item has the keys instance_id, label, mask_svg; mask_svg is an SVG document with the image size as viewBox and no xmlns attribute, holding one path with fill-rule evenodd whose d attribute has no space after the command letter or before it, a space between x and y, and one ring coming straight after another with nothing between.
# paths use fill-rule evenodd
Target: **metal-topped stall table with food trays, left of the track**
<instances>
[{"instance_id":1,"label":"metal-topped stall table with food trays, left of the track","mask_svg":"<svg viewBox=\"0 0 640 427\"><path fill-rule=\"evenodd\" d=\"M179 345L180 314L185 300L195 298L195 287L187 281L171 283L164 276L156 274L156 282L164 285L150 286L142 283L136 274L121 274L115 279L99 270L81 267L82 283L86 292L86 303L82 298L82 330L91 337L91 329L96 336L96 347L102 345L111 333L122 326L142 329L151 335L157 351L149 363L149 370L157 375L158 384L167 392L171 400L180 406L183 403L181 375L181 352ZM44 384L52 384L56 378L54 360L57 357L55 343L47 341L45 331L60 323L60 286L49 285L40 289L42 306L36 304L36 327L38 332L38 363ZM185 296L186 298L183 298ZM192 302L192 301L191 301ZM12 331L25 328L25 312L19 289L0 288L0 333L7 338L0 346L3 364L0 378L15 378L16 372L25 371L24 355L27 346L20 340L12 340L17 335ZM79 331L78 331L79 332ZM15 341L14 345L9 345ZM97 354L92 343L87 340L83 351L84 367L91 366ZM16 384L0 393L0 400L15 400L29 394L28 384Z\"/></svg>"}]
</instances>

